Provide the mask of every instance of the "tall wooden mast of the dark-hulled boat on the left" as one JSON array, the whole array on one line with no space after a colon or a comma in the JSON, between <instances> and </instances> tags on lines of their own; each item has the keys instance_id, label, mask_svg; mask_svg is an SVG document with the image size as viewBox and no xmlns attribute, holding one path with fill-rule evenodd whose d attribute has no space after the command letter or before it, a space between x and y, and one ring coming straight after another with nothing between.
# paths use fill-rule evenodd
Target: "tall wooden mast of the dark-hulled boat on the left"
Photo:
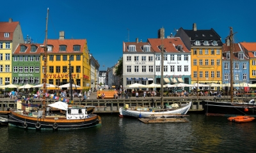
<instances>
[{"instance_id":1,"label":"tall wooden mast of the dark-hulled boat on the left","mask_svg":"<svg viewBox=\"0 0 256 153\"><path fill-rule=\"evenodd\" d=\"M49 17L49 8L47 8L47 17L46 17L46 30L45 30L45 44L44 44L44 89L43 89L43 116L45 117L45 103L46 103L46 97L45 97L45 93L46 93L46 71L47 71L47 32L48 32L48 17Z\"/></svg>"}]
</instances>

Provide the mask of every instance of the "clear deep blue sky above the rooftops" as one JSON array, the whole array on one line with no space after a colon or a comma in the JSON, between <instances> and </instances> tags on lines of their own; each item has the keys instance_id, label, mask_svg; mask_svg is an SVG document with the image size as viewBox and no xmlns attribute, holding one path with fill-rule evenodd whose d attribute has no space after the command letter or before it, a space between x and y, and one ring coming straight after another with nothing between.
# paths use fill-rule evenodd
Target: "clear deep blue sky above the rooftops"
<instances>
[{"instance_id":1,"label":"clear deep blue sky above the rooftops","mask_svg":"<svg viewBox=\"0 0 256 153\"><path fill-rule=\"evenodd\" d=\"M223 42L233 27L236 43L256 42L254 0L8 0L1 6L0 22L19 21L24 39L29 35L35 43L44 42L49 8L48 39L58 39L60 31L65 39L86 39L100 70L118 62L123 42L157 38L161 27L166 37L196 23L197 29L213 28Z\"/></svg>"}]
</instances>

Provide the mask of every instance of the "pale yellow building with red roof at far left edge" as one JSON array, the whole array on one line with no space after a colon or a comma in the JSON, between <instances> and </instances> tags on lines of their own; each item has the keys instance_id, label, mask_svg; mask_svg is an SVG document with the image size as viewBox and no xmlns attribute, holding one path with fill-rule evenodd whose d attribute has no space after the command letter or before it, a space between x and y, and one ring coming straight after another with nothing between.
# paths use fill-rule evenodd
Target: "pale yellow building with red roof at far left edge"
<instances>
[{"instance_id":1,"label":"pale yellow building with red roof at far left edge","mask_svg":"<svg viewBox=\"0 0 256 153\"><path fill-rule=\"evenodd\" d=\"M19 22L0 22L0 85L12 84L12 52L24 43Z\"/></svg>"}]
</instances>

